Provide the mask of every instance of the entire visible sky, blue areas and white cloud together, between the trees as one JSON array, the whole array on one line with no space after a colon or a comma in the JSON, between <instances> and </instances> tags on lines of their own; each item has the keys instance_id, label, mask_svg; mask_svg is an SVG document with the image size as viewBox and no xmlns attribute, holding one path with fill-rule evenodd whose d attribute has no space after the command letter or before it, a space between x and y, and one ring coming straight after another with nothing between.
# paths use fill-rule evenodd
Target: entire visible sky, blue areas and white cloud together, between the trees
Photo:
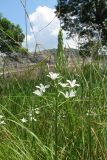
<instances>
[{"instance_id":1,"label":"entire visible sky, blue areas and white cloud together, between the trees","mask_svg":"<svg viewBox=\"0 0 107 160\"><path fill-rule=\"evenodd\" d=\"M23 3L25 0L22 0ZM37 41L34 39L33 32L30 27L27 31L28 49L34 51L36 42L41 44L41 48L56 48L57 36L60 29L59 20L55 17L55 5L57 0L26 0L27 12L29 14L30 22L32 23L34 33ZM25 13L20 0L0 0L0 13L11 22L19 24L25 33ZM39 32L44 26L47 26L43 31ZM29 25L29 23L28 23ZM64 42L66 43L66 33L64 32ZM25 40L23 46L25 45ZM67 41L66 44L75 48L76 43L73 40Z\"/></svg>"}]
</instances>

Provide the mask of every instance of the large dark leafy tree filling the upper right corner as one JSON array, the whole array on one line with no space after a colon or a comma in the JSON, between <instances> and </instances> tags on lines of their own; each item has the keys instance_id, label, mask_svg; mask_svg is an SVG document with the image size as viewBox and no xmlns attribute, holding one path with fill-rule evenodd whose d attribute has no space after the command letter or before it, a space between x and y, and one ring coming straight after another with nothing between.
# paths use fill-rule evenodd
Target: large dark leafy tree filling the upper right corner
<instances>
[{"instance_id":1,"label":"large dark leafy tree filling the upper right corner","mask_svg":"<svg viewBox=\"0 0 107 160\"><path fill-rule=\"evenodd\" d=\"M107 45L107 0L58 0L56 14L70 38L76 34L81 48ZM97 44L96 44L97 43Z\"/></svg>"}]
</instances>

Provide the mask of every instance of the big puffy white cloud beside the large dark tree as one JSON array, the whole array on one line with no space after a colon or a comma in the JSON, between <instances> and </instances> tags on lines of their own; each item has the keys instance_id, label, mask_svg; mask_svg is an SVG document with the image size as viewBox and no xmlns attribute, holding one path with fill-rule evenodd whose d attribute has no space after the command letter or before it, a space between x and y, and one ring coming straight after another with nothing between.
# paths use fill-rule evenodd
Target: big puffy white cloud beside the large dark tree
<instances>
[{"instance_id":1,"label":"big puffy white cloud beside the large dark tree","mask_svg":"<svg viewBox=\"0 0 107 160\"><path fill-rule=\"evenodd\" d=\"M55 17L55 10L48 8L47 6L39 6L36 10L29 15L30 22L33 26L33 31L36 35L37 43L41 44L45 49L47 48L56 48L57 47L57 35L60 29L60 23L57 17ZM52 23L47 26L51 22ZM45 29L44 26L47 26ZM41 31L40 31L41 30ZM40 32L39 32L40 31ZM64 41L66 34L64 33ZM28 46L30 51L34 51L36 41L34 39L34 35L32 30L30 29L29 34L27 35ZM73 40L68 40L70 47L75 48L76 43ZM25 42L23 43L25 46Z\"/></svg>"}]
</instances>

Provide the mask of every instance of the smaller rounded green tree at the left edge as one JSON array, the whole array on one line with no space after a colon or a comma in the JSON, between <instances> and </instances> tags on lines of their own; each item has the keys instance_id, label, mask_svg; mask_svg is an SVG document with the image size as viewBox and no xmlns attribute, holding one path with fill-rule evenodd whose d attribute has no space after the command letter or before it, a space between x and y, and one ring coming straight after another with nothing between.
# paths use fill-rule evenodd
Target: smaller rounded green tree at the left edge
<instances>
[{"instance_id":1,"label":"smaller rounded green tree at the left edge","mask_svg":"<svg viewBox=\"0 0 107 160\"><path fill-rule=\"evenodd\" d=\"M22 47L24 34L19 25L0 16L0 51L17 52Z\"/></svg>"}]
</instances>

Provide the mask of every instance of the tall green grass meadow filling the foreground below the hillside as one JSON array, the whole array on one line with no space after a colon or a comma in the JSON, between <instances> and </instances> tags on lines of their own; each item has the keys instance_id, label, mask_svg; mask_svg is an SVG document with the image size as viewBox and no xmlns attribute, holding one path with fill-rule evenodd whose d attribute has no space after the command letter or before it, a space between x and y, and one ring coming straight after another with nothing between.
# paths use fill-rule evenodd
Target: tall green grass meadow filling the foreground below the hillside
<instances>
[{"instance_id":1,"label":"tall green grass meadow filling the foreground below the hillside","mask_svg":"<svg viewBox=\"0 0 107 160\"><path fill-rule=\"evenodd\" d=\"M50 73L0 77L0 160L106 160L106 67Z\"/></svg>"}]
</instances>

